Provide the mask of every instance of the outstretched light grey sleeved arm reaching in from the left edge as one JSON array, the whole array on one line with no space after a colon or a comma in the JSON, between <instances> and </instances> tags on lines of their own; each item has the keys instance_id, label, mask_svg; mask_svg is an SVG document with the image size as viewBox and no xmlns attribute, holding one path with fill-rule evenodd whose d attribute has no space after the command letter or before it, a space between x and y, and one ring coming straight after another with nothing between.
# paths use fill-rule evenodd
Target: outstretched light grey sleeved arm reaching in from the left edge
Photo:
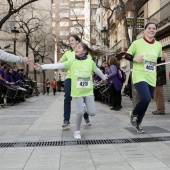
<instances>
[{"instance_id":1,"label":"outstretched light grey sleeved arm reaching in from the left edge","mask_svg":"<svg viewBox=\"0 0 170 170\"><path fill-rule=\"evenodd\" d=\"M10 54L3 50L0 50L0 59L4 61L9 61L9 62L19 62L19 63L27 63L27 64L32 62L30 58Z\"/></svg>"}]
</instances>

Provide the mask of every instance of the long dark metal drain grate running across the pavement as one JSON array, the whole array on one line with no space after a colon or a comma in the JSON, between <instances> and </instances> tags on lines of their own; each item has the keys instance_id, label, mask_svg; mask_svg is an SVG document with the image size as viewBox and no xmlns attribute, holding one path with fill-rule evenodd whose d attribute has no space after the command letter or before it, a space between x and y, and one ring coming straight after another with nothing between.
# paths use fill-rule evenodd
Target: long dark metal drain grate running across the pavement
<instances>
[{"instance_id":1,"label":"long dark metal drain grate running across the pavement","mask_svg":"<svg viewBox=\"0 0 170 170\"><path fill-rule=\"evenodd\" d=\"M170 136L148 137L148 138L127 138L127 139L50 141L50 142L14 142L14 143L0 143L0 148L71 146L71 145L102 145L102 144L125 144L125 143L163 142L163 141L170 141Z\"/></svg>"}]
</instances>

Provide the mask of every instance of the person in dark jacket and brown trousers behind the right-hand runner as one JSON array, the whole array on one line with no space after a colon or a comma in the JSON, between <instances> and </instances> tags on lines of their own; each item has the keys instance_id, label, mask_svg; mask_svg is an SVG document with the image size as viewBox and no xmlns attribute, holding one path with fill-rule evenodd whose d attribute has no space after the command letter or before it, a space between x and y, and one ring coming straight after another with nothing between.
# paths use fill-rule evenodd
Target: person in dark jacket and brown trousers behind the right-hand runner
<instances>
[{"instance_id":1,"label":"person in dark jacket and brown trousers behind the right-hand runner","mask_svg":"<svg viewBox=\"0 0 170 170\"><path fill-rule=\"evenodd\" d=\"M167 54L164 52L163 52L163 55L167 57ZM165 114L165 100L164 100L164 94L163 94L163 85L165 84L166 84L165 65L157 66L156 87L154 91L154 101L156 103L156 110L152 112L154 115Z\"/></svg>"}]
</instances>

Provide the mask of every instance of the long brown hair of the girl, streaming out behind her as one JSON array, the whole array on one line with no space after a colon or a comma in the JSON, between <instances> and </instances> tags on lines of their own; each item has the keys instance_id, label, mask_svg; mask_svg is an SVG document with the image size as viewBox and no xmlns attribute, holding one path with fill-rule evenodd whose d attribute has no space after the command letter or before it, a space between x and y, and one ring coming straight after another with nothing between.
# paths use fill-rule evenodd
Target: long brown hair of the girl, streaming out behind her
<instances>
[{"instance_id":1,"label":"long brown hair of the girl, streaming out behind her","mask_svg":"<svg viewBox=\"0 0 170 170\"><path fill-rule=\"evenodd\" d=\"M85 43L83 43L83 42L79 42L78 44L81 44L81 46L83 47L83 49L84 49L85 51L87 51L87 52L86 52L86 55L90 54L90 55L92 56L92 59L93 59L93 60L95 60L95 57L96 57L96 56L100 57L100 56L103 56L103 55L105 54L105 52L102 51L102 50L99 50L99 49L93 50L93 49L89 48L89 47L87 46L87 44L85 44Z\"/></svg>"}]
</instances>

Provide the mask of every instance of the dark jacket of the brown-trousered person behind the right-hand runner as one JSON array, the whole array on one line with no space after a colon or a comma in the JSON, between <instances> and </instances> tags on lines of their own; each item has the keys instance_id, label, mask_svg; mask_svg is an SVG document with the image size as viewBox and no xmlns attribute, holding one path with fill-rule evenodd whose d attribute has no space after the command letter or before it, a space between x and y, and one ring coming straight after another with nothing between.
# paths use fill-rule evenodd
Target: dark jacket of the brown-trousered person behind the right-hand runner
<instances>
[{"instance_id":1,"label":"dark jacket of the brown-trousered person behind the right-hand runner","mask_svg":"<svg viewBox=\"0 0 170 170\"><path fill-rule=\"evenodd\" d=\"M159 62L164 63L164 62ZM165 65L157 66L156 86L163 86L166 84L166 67Z\"/></svg>"}]
</instances>

